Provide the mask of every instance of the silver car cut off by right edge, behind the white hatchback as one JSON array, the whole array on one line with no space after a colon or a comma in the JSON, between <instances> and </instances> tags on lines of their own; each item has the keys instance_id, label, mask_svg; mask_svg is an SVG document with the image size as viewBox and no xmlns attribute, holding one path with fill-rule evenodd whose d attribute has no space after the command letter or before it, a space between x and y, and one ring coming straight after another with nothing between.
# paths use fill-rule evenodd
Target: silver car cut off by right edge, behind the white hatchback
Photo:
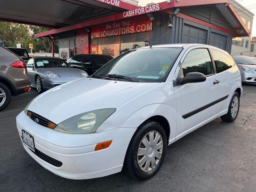
<instances>
[{"instance_id":1,"label":"silver car cut off by right edge, behind the white hatchback","mask_svg":"<svg viewBox=\"0 0 256 192\"><path fill-rule=\"evenodd\" d=\"M233 56L238 66L242 82L256 83L256 60L248 56Z\"/></svg>"}]
</instances>

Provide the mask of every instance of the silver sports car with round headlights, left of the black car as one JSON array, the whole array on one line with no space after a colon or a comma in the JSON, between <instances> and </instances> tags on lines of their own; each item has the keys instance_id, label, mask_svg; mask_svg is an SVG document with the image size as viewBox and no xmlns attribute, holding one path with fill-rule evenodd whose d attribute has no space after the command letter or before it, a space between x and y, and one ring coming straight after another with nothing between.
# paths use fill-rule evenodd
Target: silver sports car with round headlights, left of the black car
<instances>
[{"instance_id":1,"label":"silver sports car with round headlights, left of the black car","mask_svg":"<svg viewBox=\"0 0 256 192\"><path fill-rule=\"evenodd\" d=\"M81 70L70 67L61 58L34 57L27 62L31 86L41 93L44 90L88 76Z\"/></svg>"}]
</instances>

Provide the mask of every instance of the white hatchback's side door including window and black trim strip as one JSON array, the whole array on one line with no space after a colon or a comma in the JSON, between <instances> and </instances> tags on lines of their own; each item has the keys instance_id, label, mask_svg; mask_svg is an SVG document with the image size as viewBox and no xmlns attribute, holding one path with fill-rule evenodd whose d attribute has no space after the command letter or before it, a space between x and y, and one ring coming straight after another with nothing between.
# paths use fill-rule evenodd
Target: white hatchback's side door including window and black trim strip
<instances>
[{"instance_id":1,"label":"white hatchback's side door including window and black trim strip","mask_svg":"<svg viewBox=\"0 0 256 192\"><path fill-rule=\"evenodd\" d=\"M222 97L216 83L216 69L207 46L188 48L180 63L181 67L177 70L181 70L184 76L189 72L200 72L206 75L206 81L175 86L179 114L176 139L216 116L216 102Z\"/></svg>"}]
</instances>

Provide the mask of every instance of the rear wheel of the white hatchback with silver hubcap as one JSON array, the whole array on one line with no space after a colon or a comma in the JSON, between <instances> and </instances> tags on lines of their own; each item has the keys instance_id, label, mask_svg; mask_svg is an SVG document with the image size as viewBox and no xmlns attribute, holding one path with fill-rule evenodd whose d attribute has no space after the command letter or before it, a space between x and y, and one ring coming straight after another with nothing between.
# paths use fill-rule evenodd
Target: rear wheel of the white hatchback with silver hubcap
<instances>
[{"instance_id":1,"label":"rear wheel of the white hatchback with silver hubcap","mask_svg":"<svg viewBox=\"0 0 256 192\"><path fill-rule=\"evenodd\" d=\"M236 117L239 112L239 107L240 107L240 96L237 92L234 92L232 99L230 101L230 104L228 106L228 113L220 117L222 121L233 122L234 120L236 120Z\"/></svg>"}]
</instances>

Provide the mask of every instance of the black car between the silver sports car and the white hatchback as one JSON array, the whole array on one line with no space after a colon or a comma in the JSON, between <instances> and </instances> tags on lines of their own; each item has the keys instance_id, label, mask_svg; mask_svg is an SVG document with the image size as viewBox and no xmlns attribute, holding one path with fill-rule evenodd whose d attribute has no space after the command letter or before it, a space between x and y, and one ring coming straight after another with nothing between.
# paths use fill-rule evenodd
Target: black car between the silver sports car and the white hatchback
<instances>
[{"instance_id":1,"label":"black car between the silver sports car and the white hatchback","mask_svg":"<svg viewBox=\"0 0 256 192\"><path fill-rule=\"evenodd\" d=\"M112 60L112 56L100 54L79 54L73 56L67 62L74 68L79 68L88 73L93 74L107 62Z\"/></svg>"}]
</instances>

